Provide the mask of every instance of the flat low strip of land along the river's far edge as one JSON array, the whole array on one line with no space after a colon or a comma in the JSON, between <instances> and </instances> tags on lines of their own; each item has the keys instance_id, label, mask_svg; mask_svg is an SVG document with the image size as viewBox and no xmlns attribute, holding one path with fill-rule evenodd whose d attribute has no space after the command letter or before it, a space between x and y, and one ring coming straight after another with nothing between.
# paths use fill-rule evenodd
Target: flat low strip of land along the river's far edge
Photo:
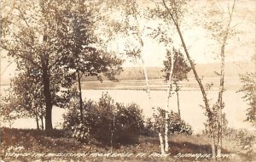
<instances>
[{"instance_id":1,"label":"flat low strip of land along the river's far edge","mask_svg":"<svg viewBox=\"0 0 256 162\"><path fill-rule=\"evenodd\" d=\"M202 82L206 86L207 84L213 83L211 90L218 90L218 77L203 78ZM180 81L181 91L194 91L199 90L198 83L194 77L189 78L189 81ZM154 91L166 91L166 81L164 79L151 79L149 80L149 86ZM225 87L228 90L238 91L241 87L241 82L238 77L226 77ZM114 81L83 81L83 89L93 90L145 90L146 82L144 80L121 80L118 82Z\"/></svg>"}]
</instances>

